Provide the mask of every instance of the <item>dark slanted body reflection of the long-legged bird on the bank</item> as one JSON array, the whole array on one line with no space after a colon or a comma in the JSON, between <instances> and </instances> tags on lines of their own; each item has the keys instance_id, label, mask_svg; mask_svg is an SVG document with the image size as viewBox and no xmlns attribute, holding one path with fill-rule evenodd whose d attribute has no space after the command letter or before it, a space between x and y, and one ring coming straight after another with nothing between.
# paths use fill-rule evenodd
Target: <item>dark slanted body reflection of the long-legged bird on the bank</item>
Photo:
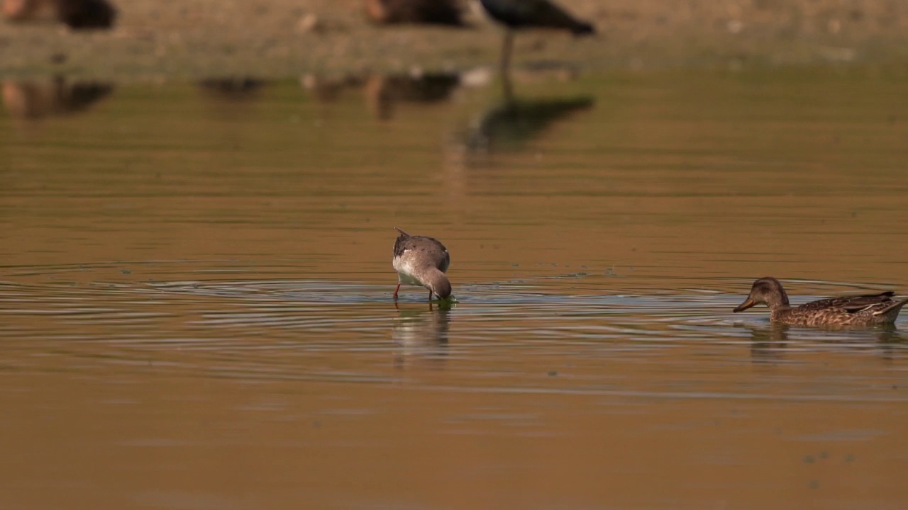
<instances>
[{"instance_id":1,"label":"dark slanted body reflection of the long-legged bird on the bank","mask_svg":"<svg viewBox=\"0 0 908 510\"><path fill-rule=\"evenodd\" d=\"M506 93L505 102L485 113L469 129L466 151L471 153L517 152L548 126L571 113L588 110L591 96L555 99L516 99Z\"/></svg>"}]
</instances>

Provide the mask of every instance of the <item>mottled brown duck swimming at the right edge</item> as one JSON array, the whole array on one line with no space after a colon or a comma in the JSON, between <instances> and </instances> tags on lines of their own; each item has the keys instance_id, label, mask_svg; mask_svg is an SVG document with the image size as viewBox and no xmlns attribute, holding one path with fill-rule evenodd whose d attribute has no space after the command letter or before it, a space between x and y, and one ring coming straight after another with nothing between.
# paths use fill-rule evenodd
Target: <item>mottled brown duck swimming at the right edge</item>
<instances>
[{"instance_id":1,"label":"mottled brown duck swimming at the right edge","mask_svg":"<svg viewBox=\"0 0 908 510\"><path fill-rule=\"evenodd\" d=\"M772 277L754 282L745 302L735 308L744 311L758 304L769 307L769 319L793 326L874 326L891 324L908 299L895 300L893 292L820 299L793 307L782 283Z\"/></svg>"}]
</instances>

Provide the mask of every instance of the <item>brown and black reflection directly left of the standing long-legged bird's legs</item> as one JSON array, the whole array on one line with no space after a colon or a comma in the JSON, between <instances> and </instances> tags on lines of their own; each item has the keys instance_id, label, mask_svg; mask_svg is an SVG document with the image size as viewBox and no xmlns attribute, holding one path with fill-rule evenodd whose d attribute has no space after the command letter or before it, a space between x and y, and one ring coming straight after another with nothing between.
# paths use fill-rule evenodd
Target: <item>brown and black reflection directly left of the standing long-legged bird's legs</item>
<instances>
[{"instance_id":1,"label":"brown and black reflection directly left of the standing long-legged bird's legs","mask_svg":"<svg viewBox=\"0 0 908 510\"><path fill-rule=\"evenodd\" d=\"M459 74L453 73L373 75L366 80L365 94L372 113L388 120L397 103L447 101L459 83Z\"/></svg>"}]
</instances>

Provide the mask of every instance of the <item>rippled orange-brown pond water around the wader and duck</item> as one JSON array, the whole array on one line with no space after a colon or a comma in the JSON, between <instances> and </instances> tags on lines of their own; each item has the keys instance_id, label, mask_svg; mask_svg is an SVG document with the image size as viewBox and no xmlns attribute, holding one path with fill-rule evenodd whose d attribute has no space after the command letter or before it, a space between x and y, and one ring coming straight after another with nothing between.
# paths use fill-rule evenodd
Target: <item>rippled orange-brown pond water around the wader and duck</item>
<instances>
[{"instance_id":1,"label":"rippled orange-brown pond water around the wader and duck","mask_svg":"<svg viewBox=\"0 0 908 510\"><path fill-rule=\"evenodd\" d=\"M906 84L7 82L0 508L903 508Z\"/></svg>"}]
</instances>

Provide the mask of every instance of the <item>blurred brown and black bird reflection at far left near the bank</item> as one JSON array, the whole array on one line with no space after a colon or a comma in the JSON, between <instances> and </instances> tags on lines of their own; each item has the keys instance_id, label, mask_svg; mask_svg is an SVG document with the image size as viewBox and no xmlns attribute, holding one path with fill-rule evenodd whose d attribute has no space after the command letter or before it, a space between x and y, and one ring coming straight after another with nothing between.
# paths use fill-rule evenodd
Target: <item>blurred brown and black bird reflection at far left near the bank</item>
<instances>
[{"instance_id":1,"label":"blurred brown and black bird reflection at far left near the bank","mask_svg":"<svg viewBox=\"0 0 908 510\"><path fill-rule=\"evenodd\" d=\"M46 82L4 82L3 103L11 116L36 120L84 112L113 92L110 83L66 83L63 77Z\"/></svg>"}]
</instances>

